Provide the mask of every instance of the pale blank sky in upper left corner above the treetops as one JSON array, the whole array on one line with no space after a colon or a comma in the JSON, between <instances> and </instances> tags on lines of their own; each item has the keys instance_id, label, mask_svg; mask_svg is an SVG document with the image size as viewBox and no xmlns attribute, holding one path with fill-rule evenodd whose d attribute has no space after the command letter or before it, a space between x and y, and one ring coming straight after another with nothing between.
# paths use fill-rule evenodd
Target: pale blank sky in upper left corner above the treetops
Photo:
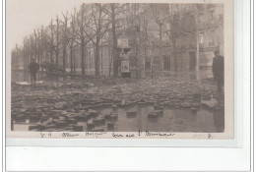
<instances>
[{"instance_id":1,"label":"pale blank sky in upper left corner above the treetops","mask_svg":"<svg viewBox=\"0 0 256 172\"><path fill-rule=\"evenodd\" d=\"M6 1L6 54L15 44L23 44L23 38L33 29L50 24L56 15L73 12L83 0L7 0Z\"/></svg>"}]
</instances>

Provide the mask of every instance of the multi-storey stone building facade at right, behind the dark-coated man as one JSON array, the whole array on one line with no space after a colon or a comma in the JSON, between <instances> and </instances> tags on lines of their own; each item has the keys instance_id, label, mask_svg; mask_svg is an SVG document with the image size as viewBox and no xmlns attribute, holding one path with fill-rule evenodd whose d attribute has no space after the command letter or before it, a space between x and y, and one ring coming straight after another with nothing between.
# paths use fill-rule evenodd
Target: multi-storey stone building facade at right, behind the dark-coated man
<instances>
[{"instance_id":1,"label":"multi-storey stone building facade at right, behind the dark-coated man","mask_svg":"<svg viewBox=\"0 0 256 172\"><path fill-rule=\"evenodd\" d=\"M171 69L211 73L214 51L224 55L224 7L221 4L170 5L173 25Z\"/></svg>"}]
</instances>

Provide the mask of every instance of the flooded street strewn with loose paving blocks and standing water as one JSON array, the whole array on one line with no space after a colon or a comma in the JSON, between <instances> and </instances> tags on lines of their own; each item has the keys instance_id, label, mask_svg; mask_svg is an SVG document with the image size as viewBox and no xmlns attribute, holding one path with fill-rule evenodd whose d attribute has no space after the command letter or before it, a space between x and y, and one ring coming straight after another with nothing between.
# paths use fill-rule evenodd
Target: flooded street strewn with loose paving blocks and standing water
<instances>
[{"instance_id":1,"label":"flooded street strewn with loose paving blocks and standing water","mask_svg":"<svg viewBox=\"0 0 256 172\"><path fill-rule=\"evenodd\" d=\"M180 75L154 81L107 79L103 85L60 79L52 86L41 75L34 87L26 84L28 75L16 74L12 130L224 132L224 95L214 82Z\"/></svg>"}]
</instances>

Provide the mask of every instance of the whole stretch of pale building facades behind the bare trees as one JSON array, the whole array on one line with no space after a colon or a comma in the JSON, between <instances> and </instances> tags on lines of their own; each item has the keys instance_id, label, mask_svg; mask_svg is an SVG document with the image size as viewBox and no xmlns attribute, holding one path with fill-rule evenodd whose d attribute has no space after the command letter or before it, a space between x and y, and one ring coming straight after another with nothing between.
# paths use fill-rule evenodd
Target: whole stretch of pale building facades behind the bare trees
<instances>
[{"instance_id":1,"label":"whole stretch of pale building facades behind the bare trees","mask_svg":"<svg viewBox=\"0 0 256 172\"><path fill-rule=\"evenodd\" d=\"M128 38L133 77L145 78L152 71L190 72L204 70L211 76L214 51L224 55L224 7L221 4L164 5L165 21L154 21L151 4L126 4L116 18L117 39ZM90 13L86 13L90 14ZM85 47L86 73L95 74L95 47ZM80 48L76 67L81 68ZM160 52L161 51L161 52ZM161 56L160 56L161 54ZM111 26L99 48L100 75L113 74ZM162 63L162 62L163 63ZM69 63L69 60L67 61ZM152 70L154 68L154 70ZM162 70L161 70L162 69Z\"/></svg>"}]
</instances>

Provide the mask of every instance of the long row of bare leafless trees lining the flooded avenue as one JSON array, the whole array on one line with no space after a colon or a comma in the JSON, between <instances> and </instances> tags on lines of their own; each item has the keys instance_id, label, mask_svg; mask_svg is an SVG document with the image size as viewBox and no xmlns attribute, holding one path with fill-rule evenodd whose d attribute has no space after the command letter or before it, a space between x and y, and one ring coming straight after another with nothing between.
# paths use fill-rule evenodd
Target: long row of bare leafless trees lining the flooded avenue
<instances>
[{"instance_id":1,"label":"long row of bare leafless trees lining the flooded avenue","mask_svg":"<svg viewBox=\"0 0 256 172\"><path fill-rule=\"evenodd\" d=\"M166 35L175 45L175 32L172 27L175 17L171 15L169 5L166 4L82 4L81 9L73 13L66 12L62 17L56 16L50 25L34 29L24 38L23 45L12 51L12 64L18 66L23 62L24 69L28 69L30 60L35 58L39 64L45 61L54 61L56 66L70 69L75 73L75 52L80 55L81 74L86 74L86 60L88 46L94 47L95 74L100 74L100 47L103 44L111 46L111 59L109 63L109 75L113 65L113 75L118 75L118 51L117 38L121 30L132 28L135 30L135 52L138 62L140 52L144 49L147 56L147 46L153 39L149 33L149 25L158 26L156 37L159 39L160 65L162 59L162 37ZM121 24L118 25L118 24ZM163 26L169 26L163 30ZM142 47L144 45L144 47ZM22 58L23 57L23 58ZM22 58L22 60L21 60ZM69 66L67 59L69 58ZM19 59L19 60L18 60ZM61 64L62 62L62 64ZM138 63L140 68L140 63Z\"/></svg>"}]
</instances>

